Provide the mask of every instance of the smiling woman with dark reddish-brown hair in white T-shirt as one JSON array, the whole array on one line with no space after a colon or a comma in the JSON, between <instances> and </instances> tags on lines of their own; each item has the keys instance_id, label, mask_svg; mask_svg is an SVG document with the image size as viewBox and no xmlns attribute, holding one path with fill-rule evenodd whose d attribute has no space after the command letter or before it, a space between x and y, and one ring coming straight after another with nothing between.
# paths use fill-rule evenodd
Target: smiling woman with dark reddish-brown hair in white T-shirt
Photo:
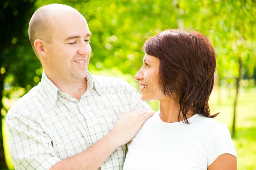
<instances>
[{"instance_id":1,"label":"smiling woman with dark reddish-brown hair in white T-shirt","mask_svg":"<svg viewBox=\"0 0 256 170\"><path fill-rule=\"evenodd\" d=\"M228 128L213 120L208 100L214 83L215 51L198 32L165 30L143 46L135 75L142 100L159 100L128 143L124 170L237 169Z\"/></svg>"}]
</instances>

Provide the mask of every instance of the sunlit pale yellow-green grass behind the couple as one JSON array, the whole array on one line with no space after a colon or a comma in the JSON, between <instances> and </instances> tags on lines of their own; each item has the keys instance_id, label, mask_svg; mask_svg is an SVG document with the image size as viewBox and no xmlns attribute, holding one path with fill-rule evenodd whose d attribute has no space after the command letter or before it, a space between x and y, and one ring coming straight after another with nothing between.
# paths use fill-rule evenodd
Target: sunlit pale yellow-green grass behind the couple
<instances>
[{"instance_id":1,"label":"sunlit pale yellow-green grass behind the couple","mask_svg":"<svg viewBox=\"0 0 256 170\"><path fill-rule=\"evenodd\" d=\"M233 120L233 103L235 89L214 88L209 100L211 114L220 112L214 118L220 123L227 124L231 132ZM236 116L236 137L232 140L237 152L238 170L256 170L256 87L239 90ZM11 106L17 99L4 99L5 105ZM159 110L159 102L150 101L153 110ZM8 107L7 106L7 107ZM8 107L9 108L9 107ZM8 130L3 119L3 134L6 162L9 169L14 169L8 149Z\"/></svg>"}]
</instances>

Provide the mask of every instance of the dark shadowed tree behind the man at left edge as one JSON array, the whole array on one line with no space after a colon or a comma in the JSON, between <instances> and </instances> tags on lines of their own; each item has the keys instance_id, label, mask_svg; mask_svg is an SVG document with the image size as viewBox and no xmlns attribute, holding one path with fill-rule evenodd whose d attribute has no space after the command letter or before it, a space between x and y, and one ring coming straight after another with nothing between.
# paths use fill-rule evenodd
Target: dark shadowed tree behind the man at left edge
<instances>
[{"instance_id":1,"label":"dark shadowed tree behind the man at left edge","mask_svg":"<svg viewBox=\"0 0 256 170\"><path fill-rule=\"evenodd\" d=\"M28 21L34 11L34 1L1 1L1 46L0 46L0 108L1 113L6 109L2 103L3 95L8 97L11 90L4 91L8 83L12 87L32 87L28 72L40 68L37 58L33 58L28 40ZM35 72L35 71L34 71ZM35 75L36 73L34 73ZM8 80L7 80L8 79ZM1 114L1 118L2 118ZM2 120L2 119L1 119ZM4 157L2 121L0 121L0 169L7 168Z\"/></svg>"}]
</instances>

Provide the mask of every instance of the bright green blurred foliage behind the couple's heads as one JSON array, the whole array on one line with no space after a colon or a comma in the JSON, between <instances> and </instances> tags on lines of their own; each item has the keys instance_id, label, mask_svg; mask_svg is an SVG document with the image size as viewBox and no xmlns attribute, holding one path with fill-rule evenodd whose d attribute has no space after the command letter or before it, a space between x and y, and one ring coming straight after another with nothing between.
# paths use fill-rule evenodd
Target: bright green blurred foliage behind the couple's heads
<instances>
[{"instance_id":1,"label":"bright green blurred foliage behind the couple's heads","mask_svg":"<svg viewBox=\"0 0 256 170\"><path fill-rule=\"evenodd\" d=\"M92 32L89 70L116 68L134 75L148 36L168 28L194 29L211 38L217 54L219 82L233 84L238 58L252 77L256 67L256 9L253 1L56 1L81 12ZM37 1L38 6L51 1Z\"/></svg>"}]
</instances>

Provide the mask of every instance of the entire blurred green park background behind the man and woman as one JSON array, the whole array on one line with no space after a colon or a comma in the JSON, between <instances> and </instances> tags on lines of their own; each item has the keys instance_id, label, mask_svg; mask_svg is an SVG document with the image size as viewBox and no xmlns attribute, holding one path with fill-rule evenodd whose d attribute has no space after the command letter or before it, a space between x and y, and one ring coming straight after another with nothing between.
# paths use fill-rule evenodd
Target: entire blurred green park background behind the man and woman
<instances>
[{"instance_id":1,"label":"entire blurred green park background behind the man and woman","mask_svg":"<svg viewBox=\"0 0 256 170\"><path fill-rule=\"evenodd\" d=\"M217 58L211 113L220 112L215 119L230 129L238 169L256 169L256 2L251 0L1 1L0 169L13 169L4 117L38 84L43 71L28 40L28 22L37 8L51 3L72 6L87 19L92 33L90 72L119 77L137 89L133 76L142 65L147 37L168 28L208 36ZM148 103L159 109L158 102Z\"/></svg>"}]
</instances>

